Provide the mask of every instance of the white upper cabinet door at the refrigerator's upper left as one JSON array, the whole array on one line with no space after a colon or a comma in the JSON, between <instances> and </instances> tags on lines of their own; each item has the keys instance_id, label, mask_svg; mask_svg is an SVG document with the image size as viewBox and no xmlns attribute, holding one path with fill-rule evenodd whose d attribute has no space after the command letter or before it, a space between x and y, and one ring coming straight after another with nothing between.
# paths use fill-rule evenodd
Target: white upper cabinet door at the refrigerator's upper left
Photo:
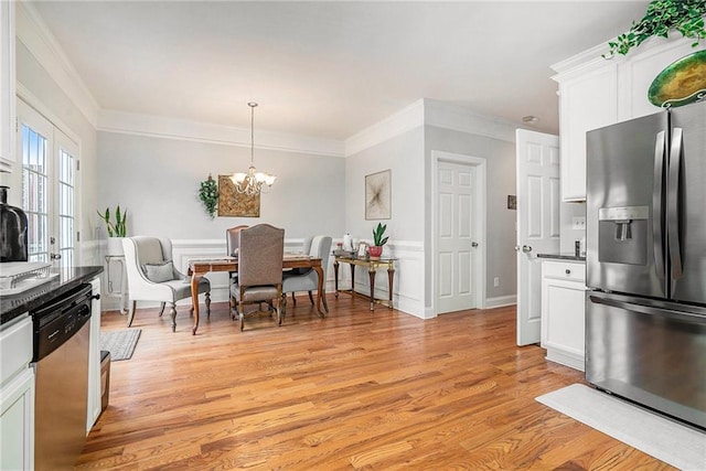
<instances>
[{"instance_id":1,"label":"white upper cabinet door at the refrigerator's upper left","mask_svg":"<svg viewBox=\"0 0 706 471\"><path fill-rule=\"evenodd\" d=\"M586 200L586 131L618 121L617 69L612 64L561 81L561 199Z\"/></svg>"}]
</instances>

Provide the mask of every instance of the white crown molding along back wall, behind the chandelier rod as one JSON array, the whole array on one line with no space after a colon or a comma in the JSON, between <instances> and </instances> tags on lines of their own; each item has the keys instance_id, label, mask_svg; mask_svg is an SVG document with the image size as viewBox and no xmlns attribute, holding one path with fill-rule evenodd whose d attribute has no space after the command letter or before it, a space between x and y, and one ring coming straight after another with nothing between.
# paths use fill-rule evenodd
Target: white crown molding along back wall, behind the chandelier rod
<instances>
[{"instance_id":1,"label":"white crown molding along back wall, behind the chandelier rod","mask_svg":"<svg viewBox=\"0 0 706 471\"><path fill-rule=\"evenodd\" d=\"M100 110L97 129L161 139L250 147L250 128L235 128L113 109ZM285 132L258 130L256 147L285 152L344 157L343 141Z\"/></svg>"}]
</instances>

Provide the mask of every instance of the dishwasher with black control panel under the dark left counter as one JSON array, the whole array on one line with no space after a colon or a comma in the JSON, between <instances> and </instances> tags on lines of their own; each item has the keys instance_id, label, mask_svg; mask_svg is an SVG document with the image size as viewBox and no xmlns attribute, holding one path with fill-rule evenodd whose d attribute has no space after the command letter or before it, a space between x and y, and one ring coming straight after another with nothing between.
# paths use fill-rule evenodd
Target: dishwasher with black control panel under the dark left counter
<instances>
[{"instance_id":1,"label":"dishwasher with black control panel under the dark left counter","mask_svg":"<svg viewBox=\"0 0 706 471\"><path fill-rule=\"evenodd\" d=\"M34 468L73 469L86 440L92 286L84 283L31 311Z\"/></svg>"}]
</instances>

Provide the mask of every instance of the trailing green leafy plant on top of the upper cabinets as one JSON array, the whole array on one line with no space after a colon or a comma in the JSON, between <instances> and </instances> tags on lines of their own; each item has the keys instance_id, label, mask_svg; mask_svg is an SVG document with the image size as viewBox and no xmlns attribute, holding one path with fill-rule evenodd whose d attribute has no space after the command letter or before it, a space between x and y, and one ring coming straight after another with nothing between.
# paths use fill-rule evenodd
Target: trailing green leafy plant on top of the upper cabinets
<instances>
[{"instance_id":1,"label":"trailing green leafy plant on top of the upper cabinets","mask_svg":"<svg viewBox=\"0 0 706 471\"><path fill-rule=\"evenodd\" d=\"M610 52L603 57L611 57L616 53L625 55L652 36L667 38L672 30L678 31L684 38L695 39L692 47L696 47L706 38L704 15L706 0L653 0L640 22L633 21L630 31L608 42Z\"/></svg>"}]
</instances>

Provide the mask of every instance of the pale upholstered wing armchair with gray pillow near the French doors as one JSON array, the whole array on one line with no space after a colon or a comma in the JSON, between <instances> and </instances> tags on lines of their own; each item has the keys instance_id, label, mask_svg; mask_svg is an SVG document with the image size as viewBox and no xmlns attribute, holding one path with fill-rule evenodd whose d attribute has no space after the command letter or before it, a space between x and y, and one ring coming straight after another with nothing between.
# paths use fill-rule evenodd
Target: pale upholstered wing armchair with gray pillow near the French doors
<instances>
[{"instance_id":1,"label":"pale upholstered wing armchair with gray pillow near the French doors","mask_svg":"<svg viewBox=\"0 0 706 471\"><path fill-rule=\"evenodd\" d=\"M176 301L191 298L191 279L174 268L172 242L162 237L136 236L122 240L125 269L128 278L130 309L128 327L132 325L137 301L159 301L164 312L169 303L172 332L176 330ZM205 293L206 313L211 313L211 283L199 281L199 292ZM193 308L191 309L193 313Z\"/></svg>"}]
</instances>

